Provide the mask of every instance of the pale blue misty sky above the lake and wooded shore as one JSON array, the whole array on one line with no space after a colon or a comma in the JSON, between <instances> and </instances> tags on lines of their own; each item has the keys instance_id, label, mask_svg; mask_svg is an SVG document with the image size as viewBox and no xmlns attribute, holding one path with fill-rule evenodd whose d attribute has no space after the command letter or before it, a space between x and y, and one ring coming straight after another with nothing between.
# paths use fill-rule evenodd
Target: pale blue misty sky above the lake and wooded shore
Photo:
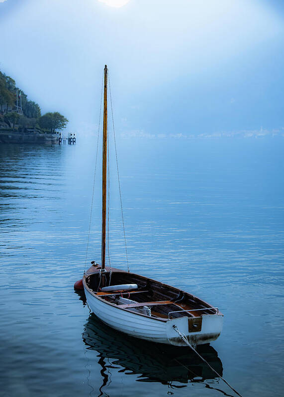
<instances>
[{"instance_id":1,"label":"pale blue misty sky above the lake and wooded shore","mask_svg":"<svg viewBox=\"0 0 284 397\"><path fill-rule=\"evenodd\" d=\"M282 1L107 1L0 0L0 70L42 112L92 132L107 64L120 133L284 128Z\"/></svg>"}]
</instances>

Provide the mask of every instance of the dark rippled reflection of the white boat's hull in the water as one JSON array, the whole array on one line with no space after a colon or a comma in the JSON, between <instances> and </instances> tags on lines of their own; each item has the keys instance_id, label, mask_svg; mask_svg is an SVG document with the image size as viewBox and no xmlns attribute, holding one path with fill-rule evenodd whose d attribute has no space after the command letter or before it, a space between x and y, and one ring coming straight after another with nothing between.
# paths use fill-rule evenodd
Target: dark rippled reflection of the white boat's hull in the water
<instances>
[{"instance_id":1,"label":"dark rippled reflection of the white boat's hull in the water","mask_svg":"<svg viewBox=\"0 0 284 397\"><path fill-rule=\"evenodd\" d=\"M119 372L131 371L137 374L139 382L160 382L171 388L187 387L189 382L204 382L207 388L214 388L219 381L216 375L201 359L187 347L176 347L146 342L142 339L125 336L91 314L85 324L83 340L88 349L98 352L98 363L101 365L103 377L100 392L108 384L112 365L119 365ZM197 347L199 354L222 376L222 362L216 350L209 344ZM113 359L106 365L107 359ZM127 375L129 372L126 373ZM179 382L184 385L173 385ZM217 388L219 390L219 388ZM220 390L220 392L222 392ZM101 392L102 393L102 392ZM102 394L100 395L102 396Z\"/></svg>"}]
</instances>

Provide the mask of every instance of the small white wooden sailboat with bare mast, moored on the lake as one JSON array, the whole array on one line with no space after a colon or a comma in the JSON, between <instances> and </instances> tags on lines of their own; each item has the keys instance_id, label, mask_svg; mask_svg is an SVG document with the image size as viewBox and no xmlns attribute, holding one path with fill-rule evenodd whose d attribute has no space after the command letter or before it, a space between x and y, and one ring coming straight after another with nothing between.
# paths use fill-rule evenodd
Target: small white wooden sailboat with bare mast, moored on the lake
<instances>
[{"instance_id":1,"label":"small white wooden sailboat with bare mast, moored on the lake","mask_svg":"<svg viewBox=\"0 0 284 397\"><path fill-rule=\"evenodd\" d=\"M91 311L107 325L136 338L193 346L220 335L223 315L192 294L138 274L105 266L107 168L107 67L104 68L101 265L93 263L81 283ZM76 287L76 286L75 286ZM77 284L78 287L78 284Z\"/></svg>"}]
</instances>

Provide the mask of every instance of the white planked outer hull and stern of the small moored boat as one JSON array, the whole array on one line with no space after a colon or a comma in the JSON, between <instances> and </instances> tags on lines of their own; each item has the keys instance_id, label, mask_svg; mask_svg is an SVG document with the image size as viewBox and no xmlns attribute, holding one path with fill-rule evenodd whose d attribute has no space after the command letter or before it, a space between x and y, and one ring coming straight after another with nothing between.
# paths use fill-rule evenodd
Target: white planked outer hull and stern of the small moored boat
<instances>
[{"instance_id":1,"label":"white planked outer hull and stern of the small moored boat","mask_svg":"<svg viewBox=\"0 0 284 397\"><path fill-rule=\"evenodd\" d=\"M120 309L92 294L84 286L87 303L91 311L110 327L136 338L151 342L166 343L177 346L186 345L183 339L173 328L176 325L184 333L189 343L193 345L211 342L219 336L223 315L203 315L201 330L189 332L189 318L180 317L173 319L153 318L130 310Z\"/></svg>"}]
</instances>

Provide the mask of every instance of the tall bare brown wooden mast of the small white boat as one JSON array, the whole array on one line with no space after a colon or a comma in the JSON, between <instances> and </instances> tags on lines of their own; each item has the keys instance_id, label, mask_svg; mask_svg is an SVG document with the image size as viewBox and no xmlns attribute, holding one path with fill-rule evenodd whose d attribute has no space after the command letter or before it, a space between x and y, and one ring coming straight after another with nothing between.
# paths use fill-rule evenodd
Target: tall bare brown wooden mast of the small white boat
<instances>
[{"instance_id":1,"label":"tall bare brown wooden mast of the small white boat","mask_svg":"<svg viewBox=\"0 0 284 397\"><path fill-rule=\"evenodd\" d=\"M101 271L105 272L106 218L106 153L107 152L107 66L104 66L103 135L102 135L102 210L101 210Z\"/></svg>"}]
</instances>

